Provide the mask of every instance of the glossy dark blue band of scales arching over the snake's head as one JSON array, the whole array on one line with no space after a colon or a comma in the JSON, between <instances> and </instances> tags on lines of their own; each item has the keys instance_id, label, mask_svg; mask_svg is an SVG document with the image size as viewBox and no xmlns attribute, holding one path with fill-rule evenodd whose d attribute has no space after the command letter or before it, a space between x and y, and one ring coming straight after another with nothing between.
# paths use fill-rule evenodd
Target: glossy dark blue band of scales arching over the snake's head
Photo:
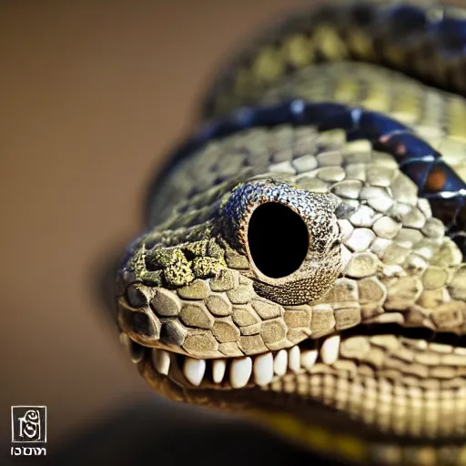
<instances>
[{"instance_id":1,"label":"glossy dark blue band of scales arching over the snake's head","mask_svg":"<svg viewBox=\"0 0 466 466\"><path fill-rule=\"evenodd\" d=\"M376 150L389 153L400 170L419 187L419 194L428 198L432 213L446 225L448 234L457 242L466 257L466 183L441 160L441 154L407 127L393 118L361 108L335 103L307 103L300 99L273 106L243 107L228 117L201 127L194 137L182 145L158 179L177 162L208 144L252 127L295 127L315 125L319 131L343 129L347 140L366 139ZM157 181L150 198L157 196Z\"/></svg>"}]
</instances>

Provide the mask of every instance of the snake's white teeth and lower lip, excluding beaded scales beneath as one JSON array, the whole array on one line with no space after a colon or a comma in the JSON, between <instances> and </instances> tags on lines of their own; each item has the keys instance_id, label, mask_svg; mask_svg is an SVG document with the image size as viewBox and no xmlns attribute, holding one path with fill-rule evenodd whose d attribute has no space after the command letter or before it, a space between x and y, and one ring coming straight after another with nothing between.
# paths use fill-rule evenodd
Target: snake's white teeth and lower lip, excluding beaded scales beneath
<instances>
[{"instance_id":1,"label":"snake's white teeth and lower lip, excluding beaded scales beneath","mask_svg":"<svg viewBox=\"0 0 466 466\"><path fill-rule=\"evenodd\" d=\"M319 373L343 373L349 379L383 377L393 383L417 376L439 380L440 385L448 380L450 387L464 382L466 387L466 335L398 324L361 324L329 337L305 339L289 349L238 358L205 360L152 349L152 364L159 374L190 390L259 387L279 391L281 385L281 390L291 392L297 387L286 383L289 376L305 380Z\"/></svg>"}]
</instances>

